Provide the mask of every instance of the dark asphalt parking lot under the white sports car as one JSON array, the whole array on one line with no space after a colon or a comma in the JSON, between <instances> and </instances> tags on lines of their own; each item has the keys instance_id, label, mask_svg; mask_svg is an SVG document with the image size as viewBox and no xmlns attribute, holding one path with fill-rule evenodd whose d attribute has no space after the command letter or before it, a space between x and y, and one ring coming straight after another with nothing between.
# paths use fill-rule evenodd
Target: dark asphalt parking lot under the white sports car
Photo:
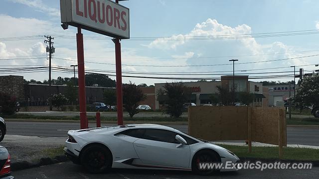
<instances>
[{"instance_id":1,"label":"dark asphalt parking lot under the white sports car","mask_svg":"<svg viewBox=\"0 0 319 179\"><path fill-rule=\"evenodd\" d=\"M71 162L13 172L14 179L318 179L319 168L307 170L241 170L196 176L191 172L113 169L93 175Z\"/></svg>"}]
</instances>

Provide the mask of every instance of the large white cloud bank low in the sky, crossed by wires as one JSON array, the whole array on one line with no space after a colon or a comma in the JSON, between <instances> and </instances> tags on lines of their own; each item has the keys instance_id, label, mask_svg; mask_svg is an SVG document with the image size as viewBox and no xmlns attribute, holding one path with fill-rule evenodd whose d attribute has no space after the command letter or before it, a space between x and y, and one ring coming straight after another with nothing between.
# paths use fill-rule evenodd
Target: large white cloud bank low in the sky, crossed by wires
<instances>
[{"instance_id":1,"label":"large white cloud bank low in the sky, crossed by wires","mask_svg":"<svg viewBox=\"0 0 319 179\"><path fill-rule=\"evenodd\" d=\"M19 36L32 36L32 35L66 35L75 37L75 28L62 30L58 22L51 22L39 20L35 18L15 18L8 15L0 14L0 37L19 37ZM9 24L9 25L8 25ZM21 27L21 28L17 28ZM230 27L220 24L217 20L207 19L202 23L194 26L189 33L179 34L181 38L193 36L207 36L207 35L238 35L252 33L252 28L246 24ZM84 32L86 36L97 36L97 34ZM174 36L170 37L173 38ZM29 55L43 55L45 57L45 44L43 43L44 37L36 40L22 40L22 41L4 41L0 42L0 57L4 56L29 56ZM130 42L132 43L132 42ZM244 56L244 55L257 55L275 53L275 55L265 56L244 56L238 57L239 62L256 62L263 60L274 60L291 57L299 57L305 54L297 54L290 52L302 51L296 50L295 47L288 46L280 41L270 44L258 43L254 38L245 39L212 39L212 40L181 40L181 41L166 41L155 40L147 47L143 48L138 45L132 45L123 41L122 44L122 66L123 71L132 72L213 72L213 71L229 71L232 66L203 66L203 67L144 67L143 65L152 66L187 66L187 65L205 65L205 64L226 64L229 63L230 57L221 56ZM131 45L131 47L129 46ZM63 39L55 38L54 46L56 53L54 57L66 58L69 60L77 59L76 39ZM115 64L114 43L111 40L84 40L84 55L85 67L90 69L98 69L105 71L115 71L114 65L93 64L87 62L109 63ZM284 53L284 54L283 54ZM287 53L287 54L285 54ZM306 54L307 55L307 54ZM159 57L159 58L157 58ZM167 58L161 58L167 57ZM199 57L199 58L196 58ZM205 58L212 57L212 58ZM313 61L316 61L315 58ZM238 70L256 69L256 68L272 68L291 66L298 64L312 64L313 61L309 59L295 59L289 61L278 61L269 63L256 63L235 66ZM52 59L53 65L70 66L76 64L76 61L66 61L60 59ZM316 63L316 62L314 62ZM0 61L0 65L44 65L48 64L48 60L33 59L33 60L12 60ZM132 65L132 66L130 66ZM133 66L141 65L141 66ZM19 74L17 74L19 75ZM29 73L22 74L25 79L34 80L47 80L48 73ZM130 76L157 76L157 75L140 75L140 74L123 74ZM65 73L52 73L52 78L57 77L72 77L73 74ZM257 76L257 75L255 75ZM163 76L158 76L163 77ZM167 75L166 75L167 77ZM174 76L169 76L174 77ZM176 75L175 77L182 77ZM184 76L186 77L186 76ZM189 76L187 76L189 77ZM199 77L199 76L194 76ZM203 76L200 76L203 77ZM111 77L115 79L115 77ZM155 79L141 79L141 78L123 78L123 83L132 81L136 84L146 83L152 85L154 83L171 82L171 80L155 80ZM258 81L258 80L257 80Z\"/></svg>"}]
</instances>

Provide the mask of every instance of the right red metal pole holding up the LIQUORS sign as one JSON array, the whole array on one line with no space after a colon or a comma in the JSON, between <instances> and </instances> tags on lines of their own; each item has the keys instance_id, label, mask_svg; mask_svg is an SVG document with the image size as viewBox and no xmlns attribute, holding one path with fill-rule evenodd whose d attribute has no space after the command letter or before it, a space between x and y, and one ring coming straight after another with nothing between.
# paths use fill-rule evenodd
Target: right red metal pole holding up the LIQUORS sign
<instances>
[{"instance_id":1,"label":"right red metal pole holding up the LIQUORS sign","mask_svg":"<svg viewBox=\"0 0 319 179\"><path fill-rule=\"evenodd\" d=\"M119 0L115 0L119 3ZM115 43L115 64L116 64L116 98L118 111L118 125L123 125L123 93L122 93L122 63L120 39L114 39Z\"/></svg>"}]
</instances>

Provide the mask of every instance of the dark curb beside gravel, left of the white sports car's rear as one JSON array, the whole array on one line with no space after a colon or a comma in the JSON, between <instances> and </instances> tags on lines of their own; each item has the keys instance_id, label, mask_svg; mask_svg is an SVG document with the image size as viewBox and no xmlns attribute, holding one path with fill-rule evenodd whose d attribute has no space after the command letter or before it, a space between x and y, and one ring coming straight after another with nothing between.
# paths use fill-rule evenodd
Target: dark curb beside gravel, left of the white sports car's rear
<instances>
[{"instance_id":1,"label":"dark curb beside gravel, left of the white sports car's rear","mask_svg":"<svg viewBox=\"0 0 319 179\"><path fill-rule=\"evenodd\" d=\"M36 163L27 162L27 161L14 162L14 163L11 163L11 171L19 171L19 170L24 170L24 169L29 169L29 168L57 164L57 163L66 162L66 161L68 161L66 156L61 155L61 156L56 156L53 159L41 158L40 161L36 162Z\"/></svg>"}]
</instances>

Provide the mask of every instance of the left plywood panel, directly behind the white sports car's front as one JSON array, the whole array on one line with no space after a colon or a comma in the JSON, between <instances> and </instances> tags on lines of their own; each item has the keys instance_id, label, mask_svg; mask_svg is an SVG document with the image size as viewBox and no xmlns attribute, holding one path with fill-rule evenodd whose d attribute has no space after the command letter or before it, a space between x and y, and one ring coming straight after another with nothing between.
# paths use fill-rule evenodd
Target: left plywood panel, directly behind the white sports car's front
<instances>
[{"instance_id":1,"label":"left plywood panel, directly behind the white sports car's front","mask_svg":"<svg viewBox=\"0 0 319 179\"><path fill-rule=\"evenodd\" d=\"M210 141L248 139L248 107L191 106L188 132Z\"/></svg>"}]
</instances>

